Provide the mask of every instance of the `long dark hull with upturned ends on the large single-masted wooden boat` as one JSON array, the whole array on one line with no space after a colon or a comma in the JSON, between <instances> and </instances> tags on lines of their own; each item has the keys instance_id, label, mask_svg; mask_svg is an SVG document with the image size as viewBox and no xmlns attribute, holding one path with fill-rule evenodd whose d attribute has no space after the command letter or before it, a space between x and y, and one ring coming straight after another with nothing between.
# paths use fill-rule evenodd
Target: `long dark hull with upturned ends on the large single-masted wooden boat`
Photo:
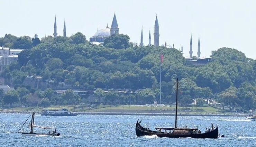
<instances>
[{"instance_id":1,"label":"long dark hull with upturned ends on the large single-masted wooden boat","mask_svg":"<svg viewBox=\"0 0 256 147\"><path fill-rule=\"evenodd\" d=\"M139 120L138 120L139 121ZM201 133L201 134L164 134L163 132L158 131L152 131L147 130L146 128L143 128L140 126L140 123L137 121L136 123L136 135L139 136L152 136L156 135L158 137L168 137L168 138L218 138L219 130L218 126L216 126L216 129L210 132Z\"/></svg>"}]
</instances>

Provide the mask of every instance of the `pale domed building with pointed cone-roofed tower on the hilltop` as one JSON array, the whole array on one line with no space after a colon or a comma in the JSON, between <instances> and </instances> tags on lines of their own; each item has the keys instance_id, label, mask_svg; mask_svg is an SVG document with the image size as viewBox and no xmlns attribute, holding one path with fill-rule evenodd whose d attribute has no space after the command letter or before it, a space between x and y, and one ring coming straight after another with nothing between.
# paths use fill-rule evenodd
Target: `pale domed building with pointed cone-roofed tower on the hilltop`
<instances>
[{"instance_id":1,"label":"pale domed building with pointed cone-roofed tower on the hilltop","mask_svg":"<svg viewBox=\"0 0 256 147\"><path fill-rule=\"evenodd\" d=\"M101 29L101 30L99 30L99 28L98 28L97 32L90 38L90 42L103 43L105 38L107 38L108 36L113 35L113 34L119 34L116 13L114 14L111 28L109 28L108 25L106 28Z\"/></svg>"}]
</instances>

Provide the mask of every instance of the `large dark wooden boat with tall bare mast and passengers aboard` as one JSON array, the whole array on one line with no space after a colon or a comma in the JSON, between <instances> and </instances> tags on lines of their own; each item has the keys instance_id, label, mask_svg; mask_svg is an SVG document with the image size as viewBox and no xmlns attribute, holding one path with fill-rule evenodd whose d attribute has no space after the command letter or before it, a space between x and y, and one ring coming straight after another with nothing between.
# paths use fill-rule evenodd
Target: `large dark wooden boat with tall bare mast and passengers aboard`
<instances>
[{"instance_id":1,"label":"large dark wooden boat with tall bare mast and passengers aboard","mask_svg":"<svg viewBox=\"0 0 256 147\"><path fill-rule=\"evenodd\" d=\"M202 132L198 128L177 128L177 102L178 102L178 79L176 81L176 111L175 111L175 127L174 128L155 128L156 131L150 130L148 127L144 128L140 125L141 120L137 120L136 123L136 135L139 136L152 136L156 135L158 137L169 137L169 138L218 138L219 130L216 125L216 129L211 124L211 130ZM157 131L158 130L158 131ZM165 130L165 132L162 132ZM166 130L170 130L167 132Z\"/></svg>"}]
</instances>

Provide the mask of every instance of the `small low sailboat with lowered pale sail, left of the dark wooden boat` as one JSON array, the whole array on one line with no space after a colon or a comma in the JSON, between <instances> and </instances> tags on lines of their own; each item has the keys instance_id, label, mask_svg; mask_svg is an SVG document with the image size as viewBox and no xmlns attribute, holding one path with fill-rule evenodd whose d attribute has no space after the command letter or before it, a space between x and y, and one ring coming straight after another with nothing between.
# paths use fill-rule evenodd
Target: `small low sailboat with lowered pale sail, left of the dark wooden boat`
<instances>
[{"instance_id":1,"label":"small low sailboat with lowered pale sail, left of the dark wooden boat","mask_svg":"<svg viewBox=\"0 0 256 147\"><path fill-rule=\"evenodd\" d=\"M31 122L29 123L29 127L30 127L30 132L25 133L25 132L21 132L22 136L38 136L38 135L46 135L46 136L60 136L61 134L56 132L56 129L53 131L49 131L48 133L35 133L34 132L34 127L38 127L38 128L42 128L42 129L52 129L50 127L45 127L45 126L36 126L35 125L35 111L32 113L32 118L31 118Z\"/></svg>"}]
</instances>

